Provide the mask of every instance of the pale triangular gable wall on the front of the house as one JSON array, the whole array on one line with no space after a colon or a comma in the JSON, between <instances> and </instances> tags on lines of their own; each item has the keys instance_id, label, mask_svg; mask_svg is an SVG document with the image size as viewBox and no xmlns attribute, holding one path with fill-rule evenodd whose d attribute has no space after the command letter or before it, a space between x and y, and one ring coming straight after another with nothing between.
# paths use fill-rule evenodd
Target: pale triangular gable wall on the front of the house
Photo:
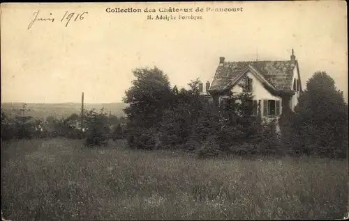
<instances>
[{"instance_id":1,"label":"pale triangular gable wall on the front of the house","mask_svg":"<svg viewBox=\"0 0 349 221\"><path fill-rule=\"evenodd\" d=\"M265 85L258 79L258 77L255 76L254 73L251 71L248 71L244 74L244 76L248 76L248 78L252 79L252 94L253 94L253 99L272 99L272 100L281 100L281 97L277 97L276 95L273 95L272 92L267 90L265 88ZM232 86L231 91L240 93L242 92L242 88L239 86L240 83L244 83L243 78L239 79L235 85Z\"/></svg>"}]
</instances>

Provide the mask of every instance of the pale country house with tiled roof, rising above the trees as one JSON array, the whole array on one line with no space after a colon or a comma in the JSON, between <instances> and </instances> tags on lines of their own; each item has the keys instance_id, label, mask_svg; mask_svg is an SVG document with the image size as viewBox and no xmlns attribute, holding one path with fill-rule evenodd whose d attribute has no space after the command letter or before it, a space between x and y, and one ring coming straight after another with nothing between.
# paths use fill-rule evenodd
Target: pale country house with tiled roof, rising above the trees
<instances>
[{"instance_id":1,"label":"pale country house with tiled roof, rising above the trees","mask_svg":"<svg viewBox=\"0 0 349 221\"><path fill-rule=\"evenodd\" d=\"M214 103L224 101L230 92L241 92L243 78L253 94L253 104L259 105L253 115L258 115L258 110L262 117L277 117L285 108L294 111L302 84L293 49L290 60L229 62L220 57L214 79L211 85L207 83Z\"/></svg>"}]
</instances>

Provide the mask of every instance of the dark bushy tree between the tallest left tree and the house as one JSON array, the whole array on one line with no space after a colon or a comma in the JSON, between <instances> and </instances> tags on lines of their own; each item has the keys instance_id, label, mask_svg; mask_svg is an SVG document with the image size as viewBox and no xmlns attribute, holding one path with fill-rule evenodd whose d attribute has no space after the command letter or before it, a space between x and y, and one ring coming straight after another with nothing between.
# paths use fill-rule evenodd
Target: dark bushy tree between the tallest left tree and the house
<instances>
[{"instance_id":1,"label":"dark bushy tree between the tallest left tree and the house","mask_svg":"<svg viewBox=\"0 0 349 221\"><path fill-rule=\"evenodd\" d=\"M200 95L200 79L190 81L188 90L174 86L172 106L165 111L161 124L161 144L165 147L185 145L189 140L203 142L211 133L209 101Z\"/></svg>"}]
</instances>

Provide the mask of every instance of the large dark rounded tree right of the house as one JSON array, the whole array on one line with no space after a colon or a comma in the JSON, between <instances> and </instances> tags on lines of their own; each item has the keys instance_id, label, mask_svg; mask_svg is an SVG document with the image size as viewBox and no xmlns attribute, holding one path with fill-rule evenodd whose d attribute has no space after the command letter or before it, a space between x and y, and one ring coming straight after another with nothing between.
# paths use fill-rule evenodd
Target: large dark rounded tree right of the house
<instances>
[{"instance_id":1,"label":"large dark rounded tree right of the house","mask_svg":"<svg viewBox=\"0 0 349 221\"><path fill-rule=\"evenodd\" d=\"M315 72L295 107L292 129L304 154L346 157L348 104L326 72Z\"/></svg>"}]
</instances>

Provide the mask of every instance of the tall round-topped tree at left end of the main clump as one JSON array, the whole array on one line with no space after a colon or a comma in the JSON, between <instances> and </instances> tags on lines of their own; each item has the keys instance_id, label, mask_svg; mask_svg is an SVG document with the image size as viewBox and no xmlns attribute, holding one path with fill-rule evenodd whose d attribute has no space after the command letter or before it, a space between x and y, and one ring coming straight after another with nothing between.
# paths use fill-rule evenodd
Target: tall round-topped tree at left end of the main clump
<instances>
[{"instance_id":1,"label":"tall round-topped tree at left end of the main clump","mask_svg":"<svg viewBox=\"0 0 349 221\"><path fill-rule=\"evenodd\" d=\"M163 111L171 106L172 91L168 76L158 67L149 69L137 68L133 70L135 80L126 90L124 102L128 107L124 109L128 119L128 145L138 145L140 134L149 131L156 132L160 128ZM137 132L138 131L138 132ZM137 132L137 133L136 133ZM133 134L134 133L134 134ZM149 133L149 136L152 136ZM148 137L151 139L150 137ZM147 140L142 136L142 140Z\"/></svg>"}]
</instances>

